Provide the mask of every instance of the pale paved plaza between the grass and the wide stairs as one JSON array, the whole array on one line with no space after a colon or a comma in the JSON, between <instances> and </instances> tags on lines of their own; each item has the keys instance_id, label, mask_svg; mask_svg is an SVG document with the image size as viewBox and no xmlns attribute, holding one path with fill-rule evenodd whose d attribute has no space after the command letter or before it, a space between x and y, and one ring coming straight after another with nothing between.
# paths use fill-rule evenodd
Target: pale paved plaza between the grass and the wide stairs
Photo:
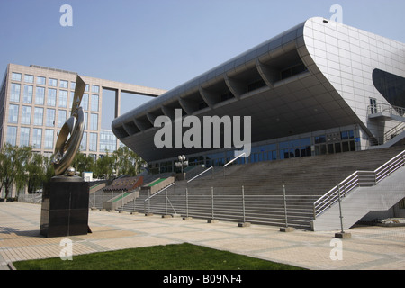
<instances>
[{"instance_id":1,"label":"pale paved plaza between the grass and the wide stairs","mask_svg":"<svg viewBox=\"0 0 405 288\"><path fill-rule=\"evenodd\" d=\"M352 238L335 231L311 232L207 220L90 211L93 233L68 237L76 255L188 242L314 270L405 270L405 227L357 227ZM0 269L19 260L59 257L64 238L40 236L40 205L0 203ZM341 249L340 249L341 248Z\"/></svg>"}]
</instances>

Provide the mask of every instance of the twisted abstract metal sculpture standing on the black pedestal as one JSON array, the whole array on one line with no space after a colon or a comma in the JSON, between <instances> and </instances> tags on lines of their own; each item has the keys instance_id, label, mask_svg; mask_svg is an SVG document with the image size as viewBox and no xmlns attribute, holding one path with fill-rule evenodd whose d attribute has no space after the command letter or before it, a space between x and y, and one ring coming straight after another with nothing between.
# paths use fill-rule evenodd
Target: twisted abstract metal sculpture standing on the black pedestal
<instances>
[{"instance_id":1,"label":"twisted abstract metal sculpture standing on the black pedestal","mask_svg":"<svg viewBox=\"0 0 405 288\"><path fill-rule=\"evenodd\" d=\"M62 126L55 144L53 166L55 175L64 175L76 156L85 131L85 115L80 107L85 93L85 81L76 76L76 88L69 119ZM70 137L69 137L70 135Z\"/></svg>"}]
</instances>

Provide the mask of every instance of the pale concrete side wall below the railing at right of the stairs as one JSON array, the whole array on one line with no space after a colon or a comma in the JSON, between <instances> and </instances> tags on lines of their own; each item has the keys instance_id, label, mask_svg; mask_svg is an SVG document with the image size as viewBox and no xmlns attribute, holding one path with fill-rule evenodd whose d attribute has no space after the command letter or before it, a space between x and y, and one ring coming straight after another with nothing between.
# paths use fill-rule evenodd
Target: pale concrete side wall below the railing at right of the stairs
<instances>
[{"instance_id":1,"label":"pale concrete side wall below the railing at right of the stairs","mask_svg":"<svg viewBox=\"0 0 405 288\"><path fill-rule=\"evenodd\" d=\"M405 167L401 167L379 184L358 187L342 198L343 228L349 229L371 211L387 211L405 198ZM314 231L341 229L339 204L312 221Z\"/></svg>"}]
</instances>

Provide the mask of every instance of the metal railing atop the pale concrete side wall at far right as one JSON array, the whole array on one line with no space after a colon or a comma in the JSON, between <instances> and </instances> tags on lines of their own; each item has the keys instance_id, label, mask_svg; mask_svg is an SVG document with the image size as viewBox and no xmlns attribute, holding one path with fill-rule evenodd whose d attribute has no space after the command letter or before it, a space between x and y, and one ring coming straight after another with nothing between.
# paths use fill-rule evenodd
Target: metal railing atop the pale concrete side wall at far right
<instances>
[{"instance_id":1,"label":"metal railing atop the pale concrete side wall at far right","mask_svg":"<svg viewBox=\"0 0 405 288\"><path fill-rule=\"evenodd\" d=\"M352 175L349 175L345 180L330 189L329 192L322 195L313 203L314 220L320 215L320 213L328 210L335 202L338 202L339 187L341 187L341 196L345 197L348 193L362 184L380 183L385 177L391 175L401 166L405 166L405 150L374 171L356 171ZM369 178L373 178L373 182L367 181ZM363 181L365 181L365 183L363 183Z\"/></svg>"}]
</instances>

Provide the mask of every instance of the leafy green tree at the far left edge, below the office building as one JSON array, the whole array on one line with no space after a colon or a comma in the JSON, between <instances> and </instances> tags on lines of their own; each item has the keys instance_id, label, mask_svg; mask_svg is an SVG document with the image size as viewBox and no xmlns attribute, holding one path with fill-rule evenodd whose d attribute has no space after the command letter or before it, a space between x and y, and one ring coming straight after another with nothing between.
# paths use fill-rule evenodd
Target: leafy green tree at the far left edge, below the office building
<instances>
[{"instance_id":1,"label":"leafy green tree at the far left edge, below the office building","mask_svg":"<svg viewBox=\"0 0 405 288\"><path fill-rule=\"evenodd\" d=\"M31 147L16 147L10 144L5 144L0 157L0 180L2 188L5 191L5 198L10 193L10 188L13 184L16 185L17 190L22 189L28 175L25 173L25 166L27 166L29 159L32 155Z\"/></svg>"}]
</instances>

